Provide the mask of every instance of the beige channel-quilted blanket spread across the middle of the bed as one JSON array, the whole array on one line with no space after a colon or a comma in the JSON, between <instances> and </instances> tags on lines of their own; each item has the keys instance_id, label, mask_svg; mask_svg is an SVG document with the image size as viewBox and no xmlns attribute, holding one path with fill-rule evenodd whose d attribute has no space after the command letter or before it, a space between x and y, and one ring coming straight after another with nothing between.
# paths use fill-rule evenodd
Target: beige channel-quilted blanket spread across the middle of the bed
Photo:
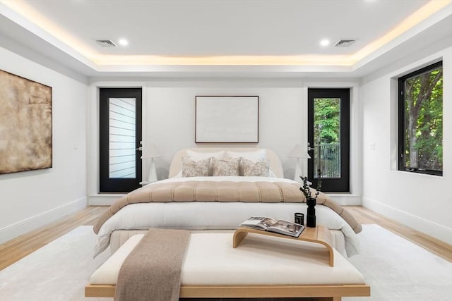
<instances>
[{"instance_id":1,"label":"beige channel-quilted blanket spread across the middle of the bed","mask_svg":"<svg viewBox=\"0 0 452 301\"><path fill-rule=\"evenodd\" d=\"M182 181L146 185L118 199L100 216L93 230L100 227L121 208L136 203L149 202L306 202L299 183L285 182L232 182L232 181ZM314 195L316 190L311 190ZM333 199L319 194L317 204L330 207L350 224L355 233L362 227L353 216Z\"/></svg>"}]
</instances>

